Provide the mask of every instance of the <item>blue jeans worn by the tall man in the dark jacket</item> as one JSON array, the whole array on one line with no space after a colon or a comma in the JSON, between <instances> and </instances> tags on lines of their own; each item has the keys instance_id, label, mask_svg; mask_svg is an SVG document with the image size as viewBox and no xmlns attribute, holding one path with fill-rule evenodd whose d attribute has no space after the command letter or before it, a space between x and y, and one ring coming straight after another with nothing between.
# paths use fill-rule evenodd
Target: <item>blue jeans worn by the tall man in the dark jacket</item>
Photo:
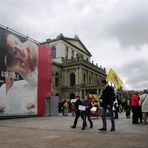
<instances>
[{"instance_id":1,"label":"blue jeans worn by the tall man in the dark jacket","mask_svg":"<svg viewBox=\"0 0 148 148\"><path fill-rule=\"evenodd\" d=\"M103 126L102 128L107 129L107 123L106 123L106 111L107 111L107 107L103 107L103 113L102 113L102 123ZM113 109L109 108L109 116L110 116L110 120L111 120L111 128L115 128L115 121L114 121L114 117L113 117Z\"/></svg>"}]
</instances>

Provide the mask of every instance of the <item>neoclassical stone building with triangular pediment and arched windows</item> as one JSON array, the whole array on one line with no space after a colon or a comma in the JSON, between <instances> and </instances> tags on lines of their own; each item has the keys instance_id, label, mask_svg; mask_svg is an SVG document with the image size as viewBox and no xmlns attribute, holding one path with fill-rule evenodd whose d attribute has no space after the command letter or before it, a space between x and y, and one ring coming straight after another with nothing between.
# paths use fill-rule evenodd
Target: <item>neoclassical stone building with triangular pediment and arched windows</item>
<instances>
[{"instance_id":1,"label":"neoclassical stone building with triangular pediment and arched windows","mask_svg":"<svg viewBox=\"0 0 148 148\"><path fill-rule=\"evenodd\" d=\"M52 95L72 99L76 95L99 94L106 70L90 61L91 53L78 36L47 39L44 45L52 49Z\"/></svg>"}]
</instances>

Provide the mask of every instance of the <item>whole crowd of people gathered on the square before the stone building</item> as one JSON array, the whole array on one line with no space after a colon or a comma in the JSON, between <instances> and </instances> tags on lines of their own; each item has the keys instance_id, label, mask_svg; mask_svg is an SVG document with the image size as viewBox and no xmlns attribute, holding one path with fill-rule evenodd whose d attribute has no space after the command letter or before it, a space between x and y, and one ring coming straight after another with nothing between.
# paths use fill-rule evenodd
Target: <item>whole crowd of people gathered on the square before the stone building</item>
<instances>
[{"instance_id":1,"label":"whole crowd of people gathered on the square before the stone building","mask_svg":"<svg viewBox=\"0 0 148 148\"><path fill-rule=\"evenodd\" d=\"M98 130L107 130L106 117L110 118L111 129L115 131L115 119L118 119L118 114L125 112L126 118L132 119L132 124L147 124L148 116L148 95L135 92L131 98L123 99L122 101L114 93L114 88L108 84L106 80L102 80L103 90L98 98L86 95L84 99L76 96L75 102L64 100L59 105L59 111L63 112L63 116L68 116L68 112L72 112L75 116L71 128L76 128L79 117L82 119L82 130L88 126L93 128L92 116L100 116L102 119L102 127Z\"/></svg>"}]
</instances>

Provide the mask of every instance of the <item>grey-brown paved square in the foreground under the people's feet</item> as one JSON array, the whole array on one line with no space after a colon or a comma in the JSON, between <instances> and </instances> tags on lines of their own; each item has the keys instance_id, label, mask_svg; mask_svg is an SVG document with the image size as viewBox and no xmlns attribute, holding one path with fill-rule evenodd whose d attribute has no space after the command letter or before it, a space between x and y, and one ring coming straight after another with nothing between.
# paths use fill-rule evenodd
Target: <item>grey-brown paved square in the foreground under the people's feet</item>
<instances>
[{"instance_id":1,"label":"grey-brown paved square in the foreground under the people's feet","mask_svg":"<svg viewBox=\"0 0 148 148\"><path fill-rule=\"evenodd\" d=\"M94 127L81 130L79 119L71 129L74 117L47 116L0 120L0 148L148 148L148 124L132 124L119 114L116 131L98 131L101 119L94 118Z\"/></svg>"}]
</instances>

